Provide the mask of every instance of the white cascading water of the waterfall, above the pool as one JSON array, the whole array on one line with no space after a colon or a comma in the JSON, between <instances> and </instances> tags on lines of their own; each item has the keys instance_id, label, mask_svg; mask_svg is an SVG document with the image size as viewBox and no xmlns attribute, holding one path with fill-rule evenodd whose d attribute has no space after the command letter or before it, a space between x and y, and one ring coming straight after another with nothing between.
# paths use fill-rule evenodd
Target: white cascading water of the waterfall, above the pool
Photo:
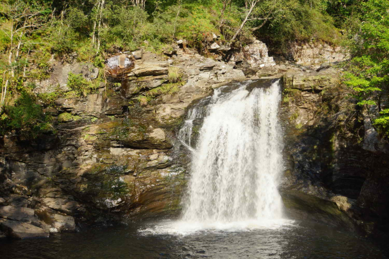
<instances>
[{"instance_id":1,"label":"white cascading water of the waterfall, above the pool","mask_svg":"<svg viewBox=\"0 0 389 259\"><path fill-rule=\"evenodd\" d=\"M191 178L183 201L185 222L241 222L277 219L282 201L277 190L283 170L278 121L279 81L270 87L227 94L216 90L199 131ZM179 137L190 145L192 110Z\"/></svg>"}]
</instances>

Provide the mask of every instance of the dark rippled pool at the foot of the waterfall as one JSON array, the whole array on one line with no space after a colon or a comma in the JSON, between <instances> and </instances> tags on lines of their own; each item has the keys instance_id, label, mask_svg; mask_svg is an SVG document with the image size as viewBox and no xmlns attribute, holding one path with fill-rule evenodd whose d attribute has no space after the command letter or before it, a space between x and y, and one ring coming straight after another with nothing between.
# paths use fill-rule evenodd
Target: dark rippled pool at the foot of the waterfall
<instances>
[{"instance_id":1,"label":"dark rippled pool at the foot of the waterfall","mask_svg":"<svg viewBox=\"0 0 389 259\"><path fill-rule=\"evenodd\" d=\"M370 241L295 222L278 228L158 234L155 224L95 228L49 239L0 241L0 259L386 259Z\"/></svg>"}]
</instances>

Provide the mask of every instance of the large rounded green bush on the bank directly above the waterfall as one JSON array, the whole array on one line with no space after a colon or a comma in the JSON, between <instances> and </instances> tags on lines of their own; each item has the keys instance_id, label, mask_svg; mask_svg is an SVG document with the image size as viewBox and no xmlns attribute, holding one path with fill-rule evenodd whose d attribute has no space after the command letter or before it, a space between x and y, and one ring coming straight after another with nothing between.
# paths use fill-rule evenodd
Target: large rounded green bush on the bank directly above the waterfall
<instances>
[{"instance_id":1,"label":"large rounded green bush on the bank directly above the waterfall","mask_svg":"<svg viewBox=\"0 0 389 259\"><path fill-rule=\"evenodd\" d=\"M267 43L270 51L283 54L289 52L294 42L339 42L340 33L334 27L334 20L320 10L318 4L310 5L299 0L267 0L262 1L256 9L256 16L271 18L254 35ZM255 20L251 27L260 26L264 21Z\"/></svg>"}]
</instances>

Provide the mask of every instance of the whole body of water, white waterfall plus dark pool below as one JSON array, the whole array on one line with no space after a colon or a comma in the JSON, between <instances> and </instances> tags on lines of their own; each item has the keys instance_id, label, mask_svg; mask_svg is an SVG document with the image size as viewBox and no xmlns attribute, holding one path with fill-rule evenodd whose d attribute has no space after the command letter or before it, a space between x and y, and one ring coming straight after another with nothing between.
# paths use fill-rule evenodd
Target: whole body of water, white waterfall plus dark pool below
<instances>
[{"instance_id":1,"label":"whole body of water, white waterfall plus dark pool below","mask_svg":"<svg viewBox=\"0 0 389 259\"><path fill-rule=\"evenodd\" d=\"M279 81L231 84L189 111L178 134L192 155L179 220L0 240L0 258L386 259L353 233L283 217L280 88Z\"/></svg>"}]
</instances>

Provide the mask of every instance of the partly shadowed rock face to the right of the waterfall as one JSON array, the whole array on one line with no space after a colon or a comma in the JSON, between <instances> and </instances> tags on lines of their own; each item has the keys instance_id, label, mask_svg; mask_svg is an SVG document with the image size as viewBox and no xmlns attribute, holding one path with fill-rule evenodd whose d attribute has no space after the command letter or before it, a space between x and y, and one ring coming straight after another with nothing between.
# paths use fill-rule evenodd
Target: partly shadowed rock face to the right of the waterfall
<instances>
[{"instance_id":1,"label":"partly shadowed rock face to the right of the waterfall","mask_svg":"<svg viewBox=\"0 0 389 259\"><path fill-rule=\"evenodd\" d=\"M327 68L283 77L281 194L294 217L381 235L388 227L389 145L366 127L362 111L355 112L339 72ZM366 139L374 144L366 145Z\"/></svg>"}]
</instances>

